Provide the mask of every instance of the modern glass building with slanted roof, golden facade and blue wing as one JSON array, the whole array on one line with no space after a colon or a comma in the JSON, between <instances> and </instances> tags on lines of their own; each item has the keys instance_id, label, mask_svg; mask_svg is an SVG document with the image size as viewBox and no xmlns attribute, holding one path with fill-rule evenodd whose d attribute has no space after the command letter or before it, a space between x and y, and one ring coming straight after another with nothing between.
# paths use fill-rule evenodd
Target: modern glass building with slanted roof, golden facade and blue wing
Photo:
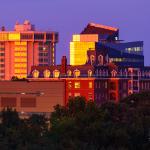
<instances>
[{"instance_id":1,"label":"modern glass building with slanted roof, golden facade and blue wing","mask_svg":"<svg viewBox=\"0 0 150 150\"><path fill-rule=\"evenodd\" d=\"M96 51L102 56L99 58L106 60L107 63L121 66L144 66L142 41L123 42L119 40L118 28L94 23L89 23L81 34L73 35L70 42L70 64L93 63L96 60ZM92 55L89 56L88 53Z\"/></svg>"}]
</instances>

